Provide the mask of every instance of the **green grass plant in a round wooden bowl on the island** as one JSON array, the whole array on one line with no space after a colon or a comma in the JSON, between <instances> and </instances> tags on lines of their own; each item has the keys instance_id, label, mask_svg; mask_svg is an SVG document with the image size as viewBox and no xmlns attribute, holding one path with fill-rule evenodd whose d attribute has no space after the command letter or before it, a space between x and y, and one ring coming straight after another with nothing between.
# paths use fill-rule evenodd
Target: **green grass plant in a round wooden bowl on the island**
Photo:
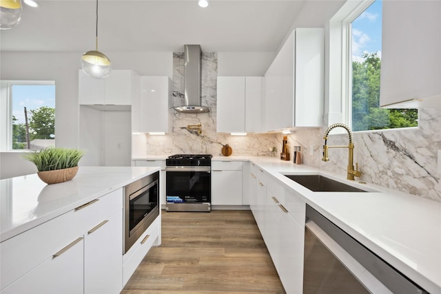
<instances>
[{"instance_id":1,"label":"green grass plant in a round wooden bowl on the island","mask_svg":"<svg viewBox=\"0 0 441 294\"><path fill-rule=\"evenodd\" d=\"M84 155L81 149L49 147L34 150L23 158L37 166L37 175L47 184L72 180L78 172L78 162Z\"/></svg>"}]
</instances>

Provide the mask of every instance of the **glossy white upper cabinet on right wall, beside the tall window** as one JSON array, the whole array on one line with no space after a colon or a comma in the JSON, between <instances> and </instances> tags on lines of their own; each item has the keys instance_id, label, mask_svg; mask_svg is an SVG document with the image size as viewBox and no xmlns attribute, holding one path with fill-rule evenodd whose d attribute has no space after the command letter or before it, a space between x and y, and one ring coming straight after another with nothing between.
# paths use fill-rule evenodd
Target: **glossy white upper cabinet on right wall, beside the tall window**
<instances>
[{"instance_id":1,"label":"glossy white upper cabinet on right wall, beside the tall window","mask_svg":"<svg viewBox=\"0 0 441 294\"><path fill-rule=\"evenodd\" d=\"M265 73L263 131L320 127L324 93L324 32L294 30Z\"/></svg>"}]
</instances>

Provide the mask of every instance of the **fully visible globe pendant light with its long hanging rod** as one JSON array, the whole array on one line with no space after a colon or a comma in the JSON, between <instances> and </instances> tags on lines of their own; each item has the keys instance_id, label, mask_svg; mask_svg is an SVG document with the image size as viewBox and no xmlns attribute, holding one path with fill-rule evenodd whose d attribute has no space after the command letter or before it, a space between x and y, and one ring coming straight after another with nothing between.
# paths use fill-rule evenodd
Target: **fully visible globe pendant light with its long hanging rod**
<instances>
[{"instance_id":1,"label":"fully visible globe pendant light with its long hanging rod","mask_svg":"<svg viewBox=\"0 0 441 294\"><path fill-rule=\"evenodd\" d=\"M98 51L98 0L96 0L96 34L95 50L85 52L81 56L81 68L83 72L93 78L105 78L112 70L112 63L103 53Z\"/></svg>"}]
</instances>

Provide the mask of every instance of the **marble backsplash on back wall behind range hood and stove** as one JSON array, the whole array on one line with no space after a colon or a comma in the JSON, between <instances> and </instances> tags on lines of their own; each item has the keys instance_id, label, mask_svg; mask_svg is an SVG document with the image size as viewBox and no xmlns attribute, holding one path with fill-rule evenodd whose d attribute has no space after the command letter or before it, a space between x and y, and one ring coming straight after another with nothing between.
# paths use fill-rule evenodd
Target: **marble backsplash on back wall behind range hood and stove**
<instances>
[{"instance_id":1,"label":"marble backsplash on back wall behind range hood and stove","mask_svg":"<svg viewBox=\"0 0 441 294\"><path fill-rule=\"evenodd\" d=\"M184 98L184 61L183 53L173 54L173 107L183 105ZM220 156L226 144L232 147L232 156L271 156L270 148L276 144L276 134L248 134L247 136L231 136L216 132L216 85L217 56L216 53L203 52L202 56L202 101L208 106L206 114L182 114L170 107L173 129L171 134L154 136L139 134L134 136L134 145L143 145L145 150L136 151L141 155L170 154L212 154ZM201 124L201 134L188 130L187 125Z\"/></svg>"}]
</instances>

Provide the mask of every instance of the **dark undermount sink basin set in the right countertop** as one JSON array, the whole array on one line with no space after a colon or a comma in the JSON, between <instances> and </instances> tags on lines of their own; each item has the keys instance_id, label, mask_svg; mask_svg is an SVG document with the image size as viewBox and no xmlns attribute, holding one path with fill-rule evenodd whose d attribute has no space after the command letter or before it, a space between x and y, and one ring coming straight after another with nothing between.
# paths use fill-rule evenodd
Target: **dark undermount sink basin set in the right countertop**
<instances>
[{"instance_id":1,"label":"dark undermount sink basin set in the right countertop","mask_svg":"<svg viewBox=\"0 0 441 294\"><path fill-rule=\"evenodd\" d=\"M314 192L367 192L320 175L284 175Z\"/></svg>"}]
</instances>

